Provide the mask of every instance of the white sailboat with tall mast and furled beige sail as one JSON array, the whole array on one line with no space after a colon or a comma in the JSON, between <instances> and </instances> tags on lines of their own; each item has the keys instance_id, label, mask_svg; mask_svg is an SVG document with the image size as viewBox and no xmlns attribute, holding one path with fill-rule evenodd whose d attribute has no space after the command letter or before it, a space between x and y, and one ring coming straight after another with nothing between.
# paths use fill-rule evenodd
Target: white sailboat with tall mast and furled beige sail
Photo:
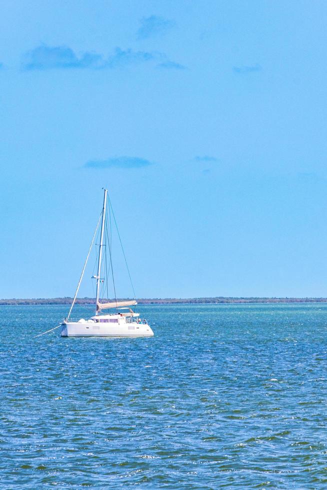
<instances>
[{"instance_id":1,"label":"white sailboat with tall mast and furled beige sail","mask_svg":"<svg viewBox=\"0 0 327 490\"><path fill-rule=\"evenodd\" d=\"M109 205L111 203L109 201ZM111 261L111 249L110 243L103 243L103 235L107 233L106 229L106 207L107 207L107 189L104 189L103 206L102 211L97 222L94 235L87 253L87 257L79 278L79 282L76 288L76 292L70 306L67 317L61 323L61 336L62 337L150 337L153 335L153 331L145 319L139 317L139 313L135 313L133 307L137 304L136 300L118 301L116 298L111 301L100 302L100 285L104 279L101 278L101 272L103 269L102 257L103 247L109 246L110 261ZM112 209L112 207L111 207ZM110 207L109 207L110 211ZM96 299L95 299L95 314L88 319L80 318L78 321L70 320L70 313L74 306L78 289L83 278L84 270L87 264L87 260L96 236L99 222L101 221L100 231L100 243L98 250L97 260L97 274L92 278L96 279ZM120 240L120 236L119 236ZM121 241L120 241L121 243ZM106 252L106 250L105 250ZM125 255L124 255L125 257ZM127 265L127 262L126 262ZM106 266L106 260L105 260ZM128 267L127 267L128 270ZM112 271L112 263L111 263ZM129 271L128 271L129 274ZM103 310L114 310L112 313L102 313Z\"/></svg>"}]
</instances>

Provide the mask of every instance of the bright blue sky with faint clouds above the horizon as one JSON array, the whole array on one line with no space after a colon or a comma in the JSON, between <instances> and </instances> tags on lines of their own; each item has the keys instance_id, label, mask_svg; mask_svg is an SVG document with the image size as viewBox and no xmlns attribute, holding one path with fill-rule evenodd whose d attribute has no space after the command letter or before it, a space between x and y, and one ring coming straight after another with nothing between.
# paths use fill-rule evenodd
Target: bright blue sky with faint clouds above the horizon
<instances>
[{"instance_id":1,"label":"bright blue sky with faint clouds above the horizon","mask_svg":"<svg viewBox=\"0 0 327 490\"><path fill-rule=\"evenodd\" d=\"M326 14L2 2L0 296L73 294L103 186L139 297L327 296Z\"/></svg>"}]
</instances>

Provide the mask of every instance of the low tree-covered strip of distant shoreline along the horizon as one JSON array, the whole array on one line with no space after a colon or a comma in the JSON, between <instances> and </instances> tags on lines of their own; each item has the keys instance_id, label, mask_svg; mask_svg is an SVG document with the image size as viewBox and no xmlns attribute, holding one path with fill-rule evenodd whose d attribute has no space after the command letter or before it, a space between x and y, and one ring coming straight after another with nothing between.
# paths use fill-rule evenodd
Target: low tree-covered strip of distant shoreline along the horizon
<instances>
[{"instance_id":1,"label":"low tree-covered strip of distant shoreline along the horizon","mask_svg":"<svg viewBox=\"0 0 327 490\"><path fill-rule=\"evenodd\" d=\"M119 298L128 299L128 298ZM0 299L0 305L71 304L71 297ZM327 303L324 297L198 297L198 298L139 298L138 304L244 304L244 303ZM75 304L95 304L95 298L77 298Z\"/></svg>"}]
</instances>

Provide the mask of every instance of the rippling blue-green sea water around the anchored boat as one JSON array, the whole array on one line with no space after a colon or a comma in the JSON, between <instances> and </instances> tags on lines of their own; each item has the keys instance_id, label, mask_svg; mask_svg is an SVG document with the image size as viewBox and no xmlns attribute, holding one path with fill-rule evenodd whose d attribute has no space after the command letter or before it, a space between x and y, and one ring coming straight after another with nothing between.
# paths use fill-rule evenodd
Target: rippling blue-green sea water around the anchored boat
<instances>
[{"instance_id":1,"label":"rippling blue-green sea water around the anchored boat","mask_svg":"<svg viewBox=\"0 0 327 490\"><path fill-rule=\"evenodd\" d=\"M154 337L0 307L1 488L327 488L327 304L138 311Z\"/></svg>"}]
</instances>

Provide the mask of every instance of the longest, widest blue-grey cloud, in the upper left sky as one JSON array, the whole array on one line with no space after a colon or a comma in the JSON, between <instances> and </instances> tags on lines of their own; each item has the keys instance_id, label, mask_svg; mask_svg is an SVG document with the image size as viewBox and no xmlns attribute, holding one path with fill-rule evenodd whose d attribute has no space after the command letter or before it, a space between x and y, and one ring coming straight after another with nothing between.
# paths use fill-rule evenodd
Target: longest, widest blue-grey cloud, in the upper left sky
<instances>
[{"instance_id":1,"label":"longest, widest blue-grey cloud, in the upper left sky","mask_svg":"<svg viewBox=\"0 0 327 490\"><path fill-rule=\"evenodd\" d=\"M106 58L102 54L91 52L84 52L77 56L70 47L41 44L25 53L22 68L25 70L117 68L162 59L163 56L161 53L134 51L132 49L120 49L119 47L116 47L114 52Z\"/></svg>"}]
</instances>

